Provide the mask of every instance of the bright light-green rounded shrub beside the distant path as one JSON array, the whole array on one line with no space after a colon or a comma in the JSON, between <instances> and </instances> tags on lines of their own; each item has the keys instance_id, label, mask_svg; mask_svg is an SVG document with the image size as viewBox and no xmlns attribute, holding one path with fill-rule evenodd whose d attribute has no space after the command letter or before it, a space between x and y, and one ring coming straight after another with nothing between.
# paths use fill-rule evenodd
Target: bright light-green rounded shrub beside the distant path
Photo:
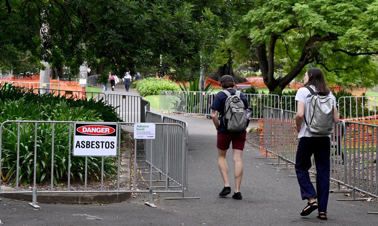
<instances>
[{"instance_id":1,"label":"bright light-green rounded shrub beside the distant path","mask_svg":"<svg viewBox=\"0 0 378 226\"><path fill-rule=\"evenodd\" d=\"M168 79L146 78L136 84L136 90L141 96L159 95L161 90L180 90L180 87Z\"/></svg>"}]
</instances>

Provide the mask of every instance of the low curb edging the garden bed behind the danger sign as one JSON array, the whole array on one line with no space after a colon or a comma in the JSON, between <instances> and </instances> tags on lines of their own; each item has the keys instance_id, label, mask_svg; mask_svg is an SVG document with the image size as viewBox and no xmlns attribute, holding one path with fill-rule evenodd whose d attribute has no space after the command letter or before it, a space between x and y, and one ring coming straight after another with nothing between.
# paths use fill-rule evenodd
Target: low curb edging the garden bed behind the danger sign
<instances>
[{"instance_id":1,"label":"low curb edging the garden bed behind the danger sign","mask_svg":"<svg viewBox=\"0 0 378 226\"><path fill-rule=\"evenodd\" d=\"M131 171L131 150L130 150L130 136L126 133L125 149L122 155L121 170L124 172L120 175L120 181L126 181L128 187L120 188L121 191L130 190L130 171ZM2 186L2 191L15 191L14 188ZM15 193L15 194L1 194L0 196L10 199L32 200L31 193ZM37 202L39 203L69 203L69 204L91 204L91 203L117 203L124 202L131 197L131 192L114 192L114 193L42 193L37 194Z\"/></svg>"}]
</instances>

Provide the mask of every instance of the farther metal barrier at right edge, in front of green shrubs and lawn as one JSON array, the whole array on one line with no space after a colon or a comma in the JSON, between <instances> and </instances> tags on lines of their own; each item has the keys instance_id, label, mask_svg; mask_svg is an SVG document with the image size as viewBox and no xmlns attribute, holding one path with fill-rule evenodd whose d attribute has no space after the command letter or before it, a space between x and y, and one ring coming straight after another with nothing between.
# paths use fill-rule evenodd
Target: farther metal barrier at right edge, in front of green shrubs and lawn
<instances>
[{"instance_id":1,"label":"farther metal barrier at right edge, in front of green shrubs and lawn","mask_svg":"<svg viewBox=\"0 0 378 226\"><path fill-rule=\"evenodd\" d=\"M342 96L338 99L340 116L359 119L377 115L378 96Z\"/></svg>"}]
</instances>

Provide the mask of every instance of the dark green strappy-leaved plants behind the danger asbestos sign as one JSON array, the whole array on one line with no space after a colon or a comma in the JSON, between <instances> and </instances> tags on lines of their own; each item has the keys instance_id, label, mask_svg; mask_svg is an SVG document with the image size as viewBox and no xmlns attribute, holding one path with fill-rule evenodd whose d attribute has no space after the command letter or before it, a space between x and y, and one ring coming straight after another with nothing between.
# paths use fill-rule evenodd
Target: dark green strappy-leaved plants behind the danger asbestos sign
<instances>
[{"instance_id":1,"label":"dark green strappy-leaved plants behind the danger asbestos sign","mask_svg":"<svg viewBox=\"0 0 378 226\"><path fill-rule=\"evenodd\" d=\"M104 106L102 106L102 105ZM102 115L106 113L106 115ZM104 117L105 116L105 117ZM0 90L0 122L9 120L35 121L86 121L97 122L103 119L116 118L113 107L103 102L74 101L51 94L36 95L25 93L22 89L11 88ZM118 118L117 118L118 119ZM73 130L73 128L71 128ZM37 182L49 180L51 177L51 123L37 124ZM34 167L34 123L20 124L20 161L19 182L24 185L33 182ZM54 125L54 183L68 177L69 125ZM72 136L72 134L71 134ZM71 137L71 151L73 147ZM15 183L17 164L17 124L7 123L2 128L2 180ZM104 158L105 177L114 178L117 166L114 157ZM71 156L71 178L83 180L85 158ZM88 178L99 180L101 177L101 157L88 157Z\"/></svg>"}]
</instances>

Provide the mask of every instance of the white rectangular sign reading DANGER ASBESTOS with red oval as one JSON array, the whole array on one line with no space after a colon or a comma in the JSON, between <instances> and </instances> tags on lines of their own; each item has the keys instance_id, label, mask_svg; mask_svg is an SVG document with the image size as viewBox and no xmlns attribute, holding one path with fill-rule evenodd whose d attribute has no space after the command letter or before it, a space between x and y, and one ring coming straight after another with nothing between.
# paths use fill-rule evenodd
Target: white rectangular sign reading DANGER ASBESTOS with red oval
<instances>
[{"instance_id":1,"label":"white rectangular sign reading DANGER ASBESTOS with red oval","mask_svg":"<svg viewBox=\"0 0 378 226\"><path fill-rule=\"evenodd\" d=\"M75 122L74 156L116 156L117 124Z\"/></svg>"}]
</instances>

